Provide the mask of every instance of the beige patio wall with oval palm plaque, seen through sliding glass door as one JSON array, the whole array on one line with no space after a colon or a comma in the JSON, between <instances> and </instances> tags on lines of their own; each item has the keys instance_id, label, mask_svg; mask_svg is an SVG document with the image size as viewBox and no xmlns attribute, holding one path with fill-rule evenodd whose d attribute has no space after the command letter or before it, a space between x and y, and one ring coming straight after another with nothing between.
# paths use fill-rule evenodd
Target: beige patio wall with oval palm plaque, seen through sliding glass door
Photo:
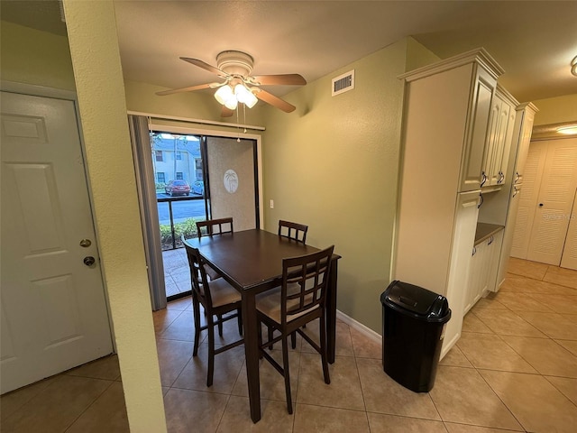
<instances>
[{"instance_id":1,"label":"beige patio wall with oval palm plaque, seen through sliding glass door","mask_svg":"<svg viewBox=\"0 0 577 433\"><path fill-rule=\"evenodd\" d=\"M211 217L233 217L234 231L257 228L255 141L206 137Z\"/></svg>"}]
</instances>

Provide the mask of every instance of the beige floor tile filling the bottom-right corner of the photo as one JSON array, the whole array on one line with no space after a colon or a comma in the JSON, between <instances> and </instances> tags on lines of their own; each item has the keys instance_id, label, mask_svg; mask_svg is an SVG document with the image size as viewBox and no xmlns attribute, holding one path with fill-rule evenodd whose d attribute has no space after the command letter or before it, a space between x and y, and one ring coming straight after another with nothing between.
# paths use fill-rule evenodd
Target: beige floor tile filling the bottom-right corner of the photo
<instances>
[{"instance_id":1,"label":"beige floor tile filling the bottom-right corner of the photo","mask_svg":"<svg viewBox=\"0 0 577 433\"><path fill-rule=\"evenodd\" d=\"M487 370L480 373L527 431L575 431L577 407L544 377Z\"/></svg>"}]
</instances>

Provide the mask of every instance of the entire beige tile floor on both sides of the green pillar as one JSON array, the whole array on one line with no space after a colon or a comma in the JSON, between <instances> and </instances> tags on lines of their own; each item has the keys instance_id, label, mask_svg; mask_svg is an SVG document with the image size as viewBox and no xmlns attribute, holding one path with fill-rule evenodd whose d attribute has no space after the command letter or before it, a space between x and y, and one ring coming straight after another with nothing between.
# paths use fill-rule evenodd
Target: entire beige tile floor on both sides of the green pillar
<instances>
[{"instance_id":1,"label":"entire beige tile floor on both sides of the green pillar","mask_svg":"<svg viewBox=\"0 0 577 433\"><path fill-rule=\"evenodd\" d=\"M206 347L191 358L189 299L154 313L154 324L169 432L549 433L577 425L577 272L541 263L511 260L499 293L466 316L431 392L392 381L382 371L379 339L339 322L330 385L306 343L291 353L293 415L281 376L262 364L257 424L249 417L242 346L216 356L208 389ZM234 337L233 323L224 340ZM121 383L109 356L11 392L0 401L1 430L126 432Z\"/></svg>"}]
</instances>

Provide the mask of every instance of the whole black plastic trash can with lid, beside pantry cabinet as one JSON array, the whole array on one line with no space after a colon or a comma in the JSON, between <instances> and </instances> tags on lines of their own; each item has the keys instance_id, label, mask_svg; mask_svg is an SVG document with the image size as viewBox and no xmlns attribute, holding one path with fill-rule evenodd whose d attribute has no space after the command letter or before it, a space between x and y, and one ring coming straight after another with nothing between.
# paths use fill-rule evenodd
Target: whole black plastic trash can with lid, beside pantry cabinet
<instances>
[{"instance_id":1,"label":"whole black plastic trash can with lid, beside pantry cabinet","mask_svg":"<svg viewBox=\"0 0 577 433\"><path fill-rule=\"evenodd\" d=\"M408 282L392 281L380 302L383 370L411 391L431 391L444 326L451 318L447 299Z\"/></svg>"}]
</instances>

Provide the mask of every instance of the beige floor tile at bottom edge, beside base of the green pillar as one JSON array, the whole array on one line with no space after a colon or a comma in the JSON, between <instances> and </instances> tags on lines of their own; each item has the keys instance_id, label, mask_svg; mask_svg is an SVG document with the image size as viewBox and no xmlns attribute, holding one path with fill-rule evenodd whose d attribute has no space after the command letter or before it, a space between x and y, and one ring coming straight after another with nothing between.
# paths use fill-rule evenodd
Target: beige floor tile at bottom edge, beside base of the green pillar
<instances>
[{"instance_id":1,"label":"beige floor tile at bottom edge, beside base of the green pillar","mask_svg":"<svg viewBox=\"0 0 577 433\"><path fill-rule=\"evenodd\" d=\"M214 433L228 399L228 395L215 392L171 388L164 396L168 432Z\"/></svg>"}]
</instances>

